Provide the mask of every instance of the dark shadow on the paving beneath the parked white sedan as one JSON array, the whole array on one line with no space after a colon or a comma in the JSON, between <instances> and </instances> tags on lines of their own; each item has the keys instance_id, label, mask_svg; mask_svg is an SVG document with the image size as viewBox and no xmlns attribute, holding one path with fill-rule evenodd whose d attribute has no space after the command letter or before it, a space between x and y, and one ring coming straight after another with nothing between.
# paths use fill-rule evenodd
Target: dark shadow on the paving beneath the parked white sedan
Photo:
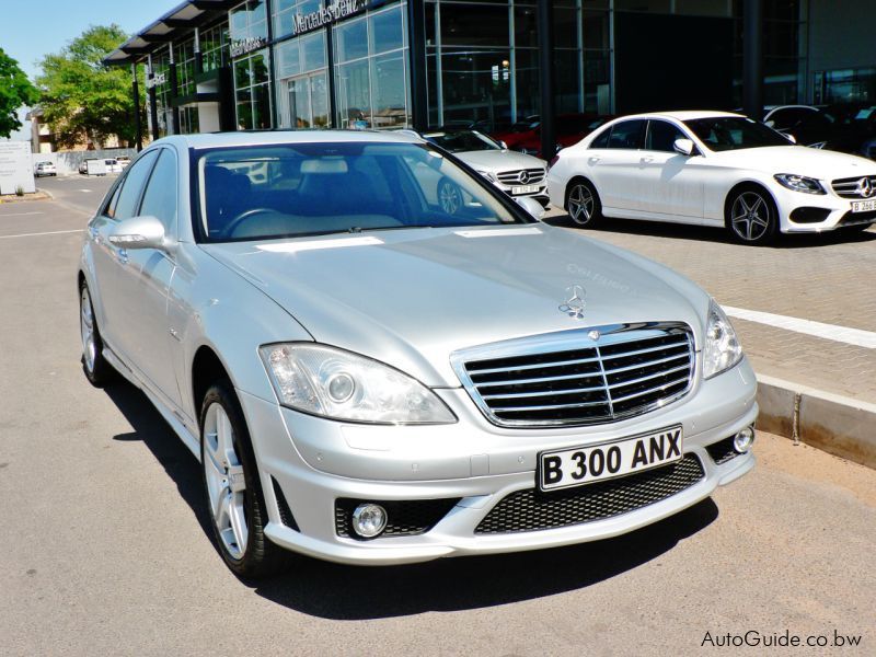
<instances>
[{"instance_id":1,"label":"dark shadow on the paving beneath the parked white sedan","mask_svg":"<svg viewBox=\"0 0 876 657\"><path fill-rule=\"evenodd\" d=\"M620 233L631 235L646 235L654 238L671 238L675 240L690 240L695 242L715 242L741 246L726 230L713 227L690 226L682 223L660 223L657 221L642 221L638 219L607 219L606 224L596 229L583 229L577 226L568 215L553 216L544 219L545 223L562 228L575 228L584 234L599 237L599 233ZM812 249L832 244L861 243L876 241L876 229L871 228L863 232L855 230L838 230L826 233L804 233L794 235L780 235L770 249Z\"/></svg>"}]
</instances>

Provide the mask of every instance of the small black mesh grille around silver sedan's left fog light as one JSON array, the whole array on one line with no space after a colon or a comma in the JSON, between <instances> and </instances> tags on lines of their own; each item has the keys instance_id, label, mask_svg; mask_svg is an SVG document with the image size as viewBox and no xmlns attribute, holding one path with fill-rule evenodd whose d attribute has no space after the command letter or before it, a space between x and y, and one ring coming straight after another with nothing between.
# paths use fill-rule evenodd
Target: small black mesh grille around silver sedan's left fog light
<instances>
[{"instance_id":1,"label":"small black mesh grille around silver sedan's left fog light","mask_svg":"<svg viewBox=\"0 0 876 657\"><path fill-rule=\"evenodd\" d=\"M353 511L365 502L379 504L387 509L387 529L380 537L412 537L429 531L452 509L460 498L415 499L410 502L381 502L378 499L335 500L335 530L344 538L361 539L353 531Z\"/></svg>"}]
</instances>

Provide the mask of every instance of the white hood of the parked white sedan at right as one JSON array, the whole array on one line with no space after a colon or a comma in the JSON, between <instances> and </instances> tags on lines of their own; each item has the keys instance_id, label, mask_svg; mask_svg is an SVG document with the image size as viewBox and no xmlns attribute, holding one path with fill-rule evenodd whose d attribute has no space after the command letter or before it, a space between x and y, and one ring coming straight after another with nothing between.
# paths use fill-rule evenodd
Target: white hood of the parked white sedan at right
<instances>
[{"instance_id":1,"label":"white hood of the parked white sedan at right","mask_svg":"<svg viewBox=\"0 0 876 657\"><path fill-rule=\"evenodd\" d=\"M754 169L770 175L794 173L821 181L876 175L876 164L865 158L805 146L771 146L766 148L722 151L710 154L728 166Z\"/></svg>"}]
</instances>

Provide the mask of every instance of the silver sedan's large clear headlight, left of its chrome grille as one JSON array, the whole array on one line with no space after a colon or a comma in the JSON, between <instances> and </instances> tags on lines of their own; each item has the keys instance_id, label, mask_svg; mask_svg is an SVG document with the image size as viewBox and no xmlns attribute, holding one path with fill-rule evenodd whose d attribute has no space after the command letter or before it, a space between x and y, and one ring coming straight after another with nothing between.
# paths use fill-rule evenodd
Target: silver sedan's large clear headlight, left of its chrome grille
<instances>
[{"instance_id":1,"label":"silver sedan's large clear headlight, left of its chrome grille","mask_svg":"<svg viewBox=\"0 0 876 657\"><path fill-rule=\"evenodd\" d=\"M373 424L449 424L456 416L431 390L387 365L312 344L258 349L284 406Z\"/></svg>"}]
</instances>

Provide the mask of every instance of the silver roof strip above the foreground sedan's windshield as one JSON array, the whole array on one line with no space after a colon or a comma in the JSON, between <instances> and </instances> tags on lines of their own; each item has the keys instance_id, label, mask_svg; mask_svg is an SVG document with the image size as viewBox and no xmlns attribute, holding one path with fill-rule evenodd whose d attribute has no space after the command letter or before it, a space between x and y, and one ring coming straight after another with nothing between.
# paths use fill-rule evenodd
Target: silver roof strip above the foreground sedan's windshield
<instances>
[{"instance_id":1,"label":"silver roof strip above the foreground sedan's windshield","mask_svg":"<svg viewBox=\"0 0 876 657\"><path fill-rule=\"evenodd\" d=\"M175 143L181 148L216 148L222 146L276 146L284 143L321 142L422 143L413 135L400 130L240 130L233 132L201 132L174 135L154 143Z\"/></svg>"}]
</instances>

